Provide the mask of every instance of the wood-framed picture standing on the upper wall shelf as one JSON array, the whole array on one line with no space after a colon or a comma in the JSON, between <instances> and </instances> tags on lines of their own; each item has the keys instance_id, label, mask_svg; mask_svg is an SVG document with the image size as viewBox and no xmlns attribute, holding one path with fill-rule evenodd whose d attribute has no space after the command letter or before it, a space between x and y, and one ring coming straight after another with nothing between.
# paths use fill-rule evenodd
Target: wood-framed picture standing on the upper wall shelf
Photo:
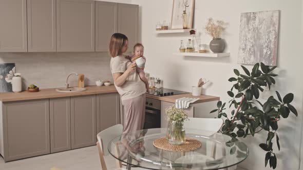
<instances>
[{"instance_id":1,"label":"wood-framed picture standing on the upper wall shelf","mask_svg":"<svg viewBox=\"0 0 303 170\"><path fill-rule=\"evenodd\" d=\"M186 7L185 7L186 6ZM183 29L183 11L187 14L187 29L193 27L195 0L174 0L171 29Z\"/></svg>"}]
</instances>

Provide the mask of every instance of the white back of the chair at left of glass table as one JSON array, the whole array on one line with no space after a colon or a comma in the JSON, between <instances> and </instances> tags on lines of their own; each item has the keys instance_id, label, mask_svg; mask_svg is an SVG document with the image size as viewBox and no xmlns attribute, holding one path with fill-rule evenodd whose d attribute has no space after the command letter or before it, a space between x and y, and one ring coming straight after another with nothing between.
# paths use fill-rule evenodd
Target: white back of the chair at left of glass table
<instances>
[{"instance_id":1,"label":"white back of the chair at left of glass table","mask_svg":"<svg viewBox=\"0 0 303 170\"><path fill-rule=\"evenodd\" d=\"M123 125L116 124L97 134L97 139L101 145L101 150L103 152L103 155L109 154L107 150L107 145L110 142L110 140L115 137L118 137L119 135L122 135L122 132L123 132Z\"/></svg>"}]
</instances>

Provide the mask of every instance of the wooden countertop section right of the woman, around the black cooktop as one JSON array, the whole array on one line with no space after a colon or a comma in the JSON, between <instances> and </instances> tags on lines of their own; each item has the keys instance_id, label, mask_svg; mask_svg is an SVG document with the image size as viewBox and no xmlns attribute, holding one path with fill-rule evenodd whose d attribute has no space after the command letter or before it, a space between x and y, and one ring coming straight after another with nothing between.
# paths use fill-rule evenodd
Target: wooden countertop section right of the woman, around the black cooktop
<instances>
[{"instance_id":1,"label":"wooden countertop section right of the woman, around the black cooktop","mask_svg":"<svg viewBox=\"0 0 303 170\"><path fill-rule=\"evenodd\" d=\"M208 95L193 96L192 93L178 94L178 95L173 95L173 96L163 96L163 97L147 94L146 97L161 100L161 101L167 101L167 102L171 102L171 103L175 103L176 99L179 99L179 98L182 98L182 97L199 98L199 100L195 101L193 104L220 100L220 97L208 96Z\"/></svg>"}]
</instances>

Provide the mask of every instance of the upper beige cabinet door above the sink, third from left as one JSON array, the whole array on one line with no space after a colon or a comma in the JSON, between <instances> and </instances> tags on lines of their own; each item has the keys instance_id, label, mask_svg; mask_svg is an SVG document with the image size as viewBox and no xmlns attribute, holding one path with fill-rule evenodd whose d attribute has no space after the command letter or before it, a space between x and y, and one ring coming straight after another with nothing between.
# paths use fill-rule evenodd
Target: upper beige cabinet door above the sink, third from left
<instances>
[{"instance_id":1,"label":"upper beige cabinet door above the sink, third from left","mask_svg":"<svg viewBox=\"0 0 303 170\"><path fill-rule=\"evenodd\" d=\"M94 22L93 0L56 0L57 51L94 51Z\"/></svg>"}]
</instances>

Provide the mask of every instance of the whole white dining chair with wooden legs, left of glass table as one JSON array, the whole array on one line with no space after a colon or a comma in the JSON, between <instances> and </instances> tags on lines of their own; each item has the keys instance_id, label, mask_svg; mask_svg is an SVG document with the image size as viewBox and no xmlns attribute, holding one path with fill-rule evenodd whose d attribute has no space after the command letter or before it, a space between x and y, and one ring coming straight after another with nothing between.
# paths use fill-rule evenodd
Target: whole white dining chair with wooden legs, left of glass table
<instances>
[{"instance_id":1,"label":"whole white dining chair with wooden legs, left of glass table","mask_svg":"<svg viewBox=\"0 0 303 170\"><path fill-rule=\"evenodd\" d=\"M97 139L98 139L97 147L98 147L102 170L107 170L104 156L109 155L109 152L107 150L108 143L110 142L111 139L118 137L119 135L122 135L122 132L123 132L123 125L116 124L97 134ZM119 153L118 144L116 146L115 152L116 154ZM116 166L117 168L115 170L126 170L125 168L122 168L122 163L118 159L116 159Z\"/></svg>"}]
</instances>

